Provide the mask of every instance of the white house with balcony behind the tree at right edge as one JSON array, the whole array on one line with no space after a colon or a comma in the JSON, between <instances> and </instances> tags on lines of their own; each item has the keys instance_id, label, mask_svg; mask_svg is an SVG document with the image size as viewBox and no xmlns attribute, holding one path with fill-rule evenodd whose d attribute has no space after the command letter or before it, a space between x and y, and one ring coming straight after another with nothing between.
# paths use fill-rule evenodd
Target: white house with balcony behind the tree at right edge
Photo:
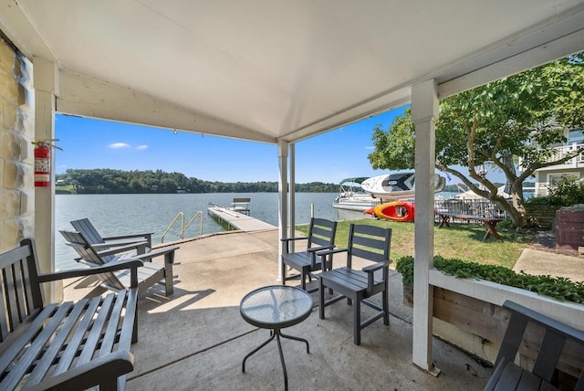
<instances>
[{"instance_id":1,"label":"white house with balcony behind the tree at right edge","mask_svg":"<svg viewBox=\"0 0 584 391\"><path fill-rule=\"evenodd\" d=\"M568 153L584 147L584 131L567 131L565 135L568 141L563 145L555 146L556 153L549 160L561 159ZM536 179L535 196L547 196L550 185L558 184L564 176L584 178L584 153L579 153L563 164L540 168L536 170L534 175Z\"/></svg>"}]
</instances>

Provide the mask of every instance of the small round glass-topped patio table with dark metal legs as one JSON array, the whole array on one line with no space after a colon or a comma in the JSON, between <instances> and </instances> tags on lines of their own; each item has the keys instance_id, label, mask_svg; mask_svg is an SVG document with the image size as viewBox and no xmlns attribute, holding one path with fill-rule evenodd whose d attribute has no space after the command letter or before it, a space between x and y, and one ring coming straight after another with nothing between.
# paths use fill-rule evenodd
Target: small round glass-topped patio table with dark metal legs
<instances>
[{"instance_id":1,"label":"small round glass-topped patio table with dark metal legs","mask_svg":"<svg viewBox=\"0 0 584 391\"><path fill-rule=\"evenodd\" d=\"M306 343L308 354L310 353L310 348L308 341L304 338L287 335L281 333L280 330L307 319L310 312L312 312L312 298L307 291L302 291L299 288L271 285L247 293L239 304L239 312L245 322L270 330L270 337L267 341L245 356L241 366L242 372L245 373L245 360L276 337L280 362L284 371L284 388L287 390L288 378L280 337Z\"/></svg>"}]
</instances>

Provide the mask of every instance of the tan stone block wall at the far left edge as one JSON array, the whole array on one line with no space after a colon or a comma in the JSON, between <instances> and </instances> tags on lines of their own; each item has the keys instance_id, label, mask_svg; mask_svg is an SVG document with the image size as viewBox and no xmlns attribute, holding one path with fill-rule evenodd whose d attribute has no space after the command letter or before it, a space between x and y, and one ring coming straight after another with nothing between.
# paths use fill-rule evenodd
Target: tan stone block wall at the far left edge
<instances>
[{"instance_id":1,"label":"tan stone block wall at the far left edge","mask_svg":"<svg viewBox=\"0 0 584 391\"><path fill-rule=\"evenodd\" d=\"M0 252L34 233L32 64L0 37Z\"/></svg>"}]
</instances>

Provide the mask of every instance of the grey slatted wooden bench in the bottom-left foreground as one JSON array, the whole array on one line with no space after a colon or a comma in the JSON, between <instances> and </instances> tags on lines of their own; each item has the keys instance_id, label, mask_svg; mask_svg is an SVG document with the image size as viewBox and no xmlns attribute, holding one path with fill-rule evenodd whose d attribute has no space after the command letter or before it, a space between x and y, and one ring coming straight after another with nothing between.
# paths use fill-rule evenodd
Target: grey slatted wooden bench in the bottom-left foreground
<instances>
[{"instance_id":1,"label":"grey slatted wooden bench in the bottom-left foreground","mask_svg":"<svg viewBox=\"0 0 584 391\"><path fill-rule=\"evenodd\" d=\"M0 254L0 389L117 390L133 370L138 340L138 259L39 274L35 243ZM131 269L130 289L77 302L45 303L42 283Z\"/></svg>"}]
</instances>

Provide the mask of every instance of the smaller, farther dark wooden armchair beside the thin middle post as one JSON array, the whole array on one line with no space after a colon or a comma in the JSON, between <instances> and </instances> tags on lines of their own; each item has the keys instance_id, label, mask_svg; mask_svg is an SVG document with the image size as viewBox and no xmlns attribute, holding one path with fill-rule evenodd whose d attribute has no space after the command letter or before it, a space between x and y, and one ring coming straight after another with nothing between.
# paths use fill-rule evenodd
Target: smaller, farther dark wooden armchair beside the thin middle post
<instances>
[{"instance_id":1,"label":"smaller, farther dark wooden armchair beside the thin middle post","mask_svg":"<svg viewBox=\"0 0 584 391\"><path fill-rule=\"evenodd\" d=\"M281 239L285 246L282 249L282 284L286 285L286 267L300 271L301 287L306 291L307 277L312 280L310 273L318 271L321 268L321 259L316 256L317 251L324 249L331 249L335 247L335 234L337 233L337 222L330 221L324 218L310 219L310 227L308 228L308 237L298 238L283 238ZM308 240L307 249L305 251L291 251L291 244L298 240ZM328 259L330 259L329 256ZM312 289L309 292L317 291L318 288Z\"/></svg>"}]
</instances>

